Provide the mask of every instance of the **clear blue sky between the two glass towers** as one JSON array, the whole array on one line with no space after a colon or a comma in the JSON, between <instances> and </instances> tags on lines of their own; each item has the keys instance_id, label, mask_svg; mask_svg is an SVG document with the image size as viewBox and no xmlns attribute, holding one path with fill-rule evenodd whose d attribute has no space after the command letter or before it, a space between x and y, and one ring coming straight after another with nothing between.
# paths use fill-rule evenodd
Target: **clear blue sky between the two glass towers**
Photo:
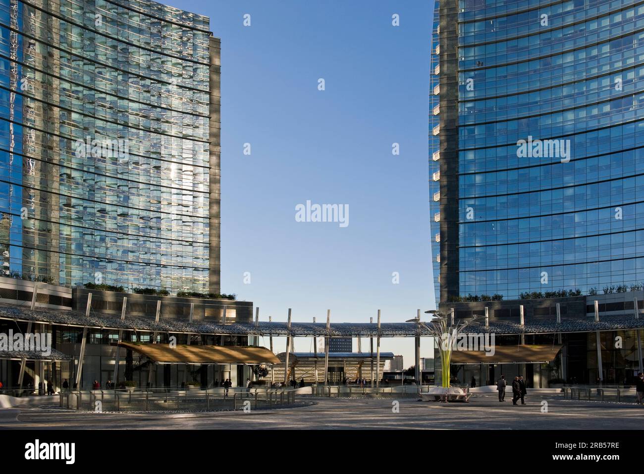
<instances>
[{"instance_id":1,"label":"clear blue sky between the two glass towers","mask_svg":"<svg viewBox=\"0 0 644 474\"><path fill-rule=\"evenodd\" d=\"M375 321L379 309L399 322L435 308L433 1L162 3L209 16L222 39L222 292L274 321L288 308L294 321L325 321L330 309L332 322ZM307 200L348 205L348 226L296 221ZM296 350L309 346L296 339ZM382 350L413 364L412 338L384 339Z\"/></svg>"}]
</instances>

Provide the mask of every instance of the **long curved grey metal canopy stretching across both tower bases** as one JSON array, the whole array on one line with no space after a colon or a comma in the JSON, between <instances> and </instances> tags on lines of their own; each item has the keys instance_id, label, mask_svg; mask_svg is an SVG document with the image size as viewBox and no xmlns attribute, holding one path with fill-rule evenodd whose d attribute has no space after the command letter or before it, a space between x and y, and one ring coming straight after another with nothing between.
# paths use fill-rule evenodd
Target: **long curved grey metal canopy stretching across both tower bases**
<instances>
[{"instance_id":1,"label":"long curved grey metal canopy stretching across both tower bases","mask_svg":"<svg viewBox=\"0 0 644 474\"><path fill-rule=\"evenodd\" d=\"M155 322L152 318L129 316L121 321L120 317L92 313L86 317L80 311L46 310L38 308L30 310L21 306L0 305L0 319L16 321L32 321L64 326L88 327L111 330L157 331L162 333L192 333L215 335L259 335L259 336L330 336L330 337L399 337L417 335L415 322L383 322L380 332L377 324L368 322L340 322L330 324L327 333L327 324L324 322L293 322L291 328L286 322L259 322L232 324L216 324L201 319L192 323L182 319L160 319ZM403 319L401 317L401 319ZM584 332L584 331L611 331L627 329L644 329L644 319L635 319L630 314L601 316L599 322L592 317L564 317L557 324L554 317L527 319L521 326L511 321L491 321L489 327L484 327L482 322L470 324L466 332L496 333L496 334L538 334L557 332ZM430 336L430 332L421 328L420 334Z\"/></svg>"}]
</instances>

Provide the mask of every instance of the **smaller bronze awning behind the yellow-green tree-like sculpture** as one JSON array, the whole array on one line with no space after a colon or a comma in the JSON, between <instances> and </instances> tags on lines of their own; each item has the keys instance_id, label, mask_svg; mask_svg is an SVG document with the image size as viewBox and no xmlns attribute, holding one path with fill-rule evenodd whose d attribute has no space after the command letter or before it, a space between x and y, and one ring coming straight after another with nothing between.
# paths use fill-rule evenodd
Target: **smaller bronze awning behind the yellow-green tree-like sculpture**
<instances>
[{"instance_id":1,"label":"smaller bronze awning behind the yellow-green tree-like sculpture","mask_svg":"<svg viewBox=\"0 0 644 474\"><path fill-rule=\"evenodd\" d=\"M563 346L495 346L493 355L485 351L452 351L451 364L545 364Z\"/></svg>"}]
</instances>

